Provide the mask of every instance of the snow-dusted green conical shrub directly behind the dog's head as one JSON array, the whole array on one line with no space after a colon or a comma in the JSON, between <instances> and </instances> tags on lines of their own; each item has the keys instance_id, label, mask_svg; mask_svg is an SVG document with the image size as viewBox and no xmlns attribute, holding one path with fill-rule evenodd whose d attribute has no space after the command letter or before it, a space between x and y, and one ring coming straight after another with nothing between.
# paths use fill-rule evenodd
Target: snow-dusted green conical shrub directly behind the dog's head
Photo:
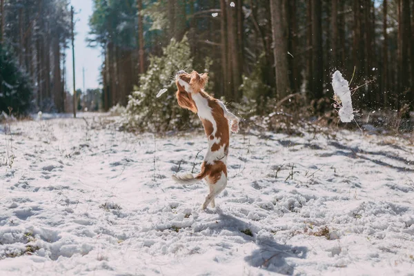
<instances>
[{"instance_id":1,"label":"snow-dusted green conical shrub directly behind the dog's head","mask_svg":"<svg viewBox=\"0 0 414 276\"><path fill-rule=\"evenodd\" d=\"M205 72L208 72L210 64L210 60L207 60ZM186 37L181 42L171 39L170 44L163 49L161 57L150 57L150 66L141 75L139 87L129 96L124 112L124 127L130 131L159 132L199 126L197 117L180 108L175 98L175 72L190 72L191 68L193 57ZM163 88L167 92L157 98L157 93Z\"/></svg>"}]
</instances>

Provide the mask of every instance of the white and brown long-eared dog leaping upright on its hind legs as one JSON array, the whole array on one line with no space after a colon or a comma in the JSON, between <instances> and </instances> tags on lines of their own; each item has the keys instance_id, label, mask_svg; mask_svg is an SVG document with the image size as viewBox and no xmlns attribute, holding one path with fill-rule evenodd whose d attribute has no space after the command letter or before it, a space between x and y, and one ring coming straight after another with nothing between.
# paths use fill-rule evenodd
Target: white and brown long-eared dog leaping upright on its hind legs
<instances>
[{"instance_id":1,"label":"white and brown long-eared dog leaping upright on its hind legs","mask_svg":"<svg viewBox=\"0 0 414 276\"><path fill-rule=\"evenodd\" d=\"M190 173L186 175L172 175L172 179L180 184L195 184L202 179L206 179L210 187L210 193L202 206L207 208L208 204L215 207L215 197L221 193L227 185L227 155L228 140L230 136L229 121L231 121L231 131L239 131L239 119L229 112L224 103L214 99L206 92L204 86L208 81L206 73L199 74L195 71L188 74L184 71L177 72L177 101L179 106L191 110L201 119L208 139L208 152L201 164L201 172L194 176Z\"/></svg>"}]
</instances>

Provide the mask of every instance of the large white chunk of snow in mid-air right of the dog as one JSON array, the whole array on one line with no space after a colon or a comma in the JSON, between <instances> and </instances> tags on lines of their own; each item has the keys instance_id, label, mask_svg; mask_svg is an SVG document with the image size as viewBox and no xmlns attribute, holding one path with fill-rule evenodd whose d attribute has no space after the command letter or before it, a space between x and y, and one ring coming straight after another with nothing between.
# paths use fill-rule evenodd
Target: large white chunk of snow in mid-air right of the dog
<instances>
[{"instance_id":1,"label":"large white chunk of snow in mid-air right of the dog","mask_svg":"<svg viewBox=\"0 0 414 276\"><path fill-rule=\"evenodd\" d=\"M339 118L344 123L353 120L353 108L351 100L351 90L349 90L348 81L342 77L341 72L335 71L332 75L332 87L335 95L339 97L342 107L339 109Z\"/></svg>"}]
</instances>

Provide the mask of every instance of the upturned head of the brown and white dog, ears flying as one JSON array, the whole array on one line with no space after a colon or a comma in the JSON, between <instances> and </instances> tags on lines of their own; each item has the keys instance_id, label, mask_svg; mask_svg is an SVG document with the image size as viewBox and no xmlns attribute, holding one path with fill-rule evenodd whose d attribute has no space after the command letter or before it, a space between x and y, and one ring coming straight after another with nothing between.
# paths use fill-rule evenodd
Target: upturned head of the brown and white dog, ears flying
<instances>
[{"instance_id":1,"label":"upturned head of the brown and white dog, ears flying","mask_svg":"<svg viewBox=\"0 0 414 276\"><path fill-rule=\"evenodd\" d=\"M208 75L207 73L199 74L195 71L188 74L187 72L181 70L177 72L175 79L178 90L197 93L206 86Z\"/></svg>"}]
</instances>

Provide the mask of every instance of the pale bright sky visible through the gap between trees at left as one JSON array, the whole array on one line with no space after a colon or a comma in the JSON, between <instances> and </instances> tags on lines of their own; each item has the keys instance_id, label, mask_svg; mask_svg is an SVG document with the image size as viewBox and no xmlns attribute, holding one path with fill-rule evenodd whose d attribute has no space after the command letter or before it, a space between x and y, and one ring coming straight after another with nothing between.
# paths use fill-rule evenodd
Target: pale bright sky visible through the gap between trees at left
<instances>
[{"instance_id":1,"label":"pale bright sky visible through the gap between trees at left","mask_svg":"<svg viewBox=\"0 0 414 276\"><path fill-rule=\"evenodd\" d=\"M99 87L99 68L102 64L100 48L89 48L89 17L92 15L92 0L71 0L75 8L75 79L76 88L83 90L83 74L85 68L85 88ZM70 43L70 46L72 44ZM72 92L72 47L66 50L66 88Z\"/></svg>"}]
</instances>

